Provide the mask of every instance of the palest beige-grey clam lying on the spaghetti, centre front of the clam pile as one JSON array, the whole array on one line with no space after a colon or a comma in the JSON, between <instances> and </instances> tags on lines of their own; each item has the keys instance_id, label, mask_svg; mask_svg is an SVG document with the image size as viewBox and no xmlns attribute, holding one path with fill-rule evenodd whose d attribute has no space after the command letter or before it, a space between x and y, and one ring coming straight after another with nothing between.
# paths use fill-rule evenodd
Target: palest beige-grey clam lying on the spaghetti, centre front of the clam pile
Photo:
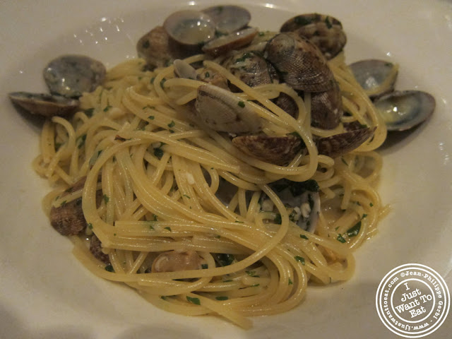
<instances>
[{"instance_id":1,"label":"palest beige-grey clam lying on the spaghetti, centre front of the clam pile","mask_svg":"<svg viewBox=\"0 0 452 339\"><path fill-rule=\"evenodd\" d=\"M261 130L261 117L249 103L223 88L199 86L195 108L196 117L215 131L256 133Z\"/></svg>"}]
</instances>

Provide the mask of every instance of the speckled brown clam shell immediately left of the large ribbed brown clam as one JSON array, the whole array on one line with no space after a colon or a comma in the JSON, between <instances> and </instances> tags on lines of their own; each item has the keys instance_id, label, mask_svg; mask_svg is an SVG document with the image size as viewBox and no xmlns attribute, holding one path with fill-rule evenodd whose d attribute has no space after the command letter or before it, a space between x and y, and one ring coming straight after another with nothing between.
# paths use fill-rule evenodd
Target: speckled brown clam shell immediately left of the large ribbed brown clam
<instances>
[{"instance_id":1,"label":"speckled brown clam shell immediately left of the large ribbed brown clam","mask_svg":"<svg viewBox=\"0 0 452 339\"><path fill-rule=\"evenodd\" d=\"M278 81L273 66L254 52L234 54L222 66L250 87Z\"/></svg>"}]
</instances>

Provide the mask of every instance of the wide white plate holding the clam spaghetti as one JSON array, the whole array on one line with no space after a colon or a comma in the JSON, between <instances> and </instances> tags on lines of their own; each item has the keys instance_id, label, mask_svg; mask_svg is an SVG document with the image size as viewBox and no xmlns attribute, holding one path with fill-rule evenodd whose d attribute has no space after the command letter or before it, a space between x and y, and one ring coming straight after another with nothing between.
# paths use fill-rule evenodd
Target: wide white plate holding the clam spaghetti
<instances>
[{"instance_id":1,"label":"wide white plate holding the clam spaghetti","mask_svg":"<svg viewBox=\"0 0 452 339\"><path fill-rule=\"evenodd\" d=\"M400 64L399 89L427 90L434 116L399 143L386 145L381 196L393 210L379 234L356 253L354 278L308 290L304 304L254 319L242 331L213 317L167 314L128 288L95 278L71 256L69 240L49 226L40 201L49 190L32 172L40 121L6 98L44 91L41 70L64 53L112 66L135 57L144 32L172 11L212 1L1 1L0 108L1 338L398 338L383 326L374 299L381 278L403 263L434 268L452 288L452 3L450 1L242 1L252 25L276 30L297 13L339 18L347 61ZM217 1L224 3L225 1ZM429 338L452 333L451 314Z\"/></svg>"}]
</instances>

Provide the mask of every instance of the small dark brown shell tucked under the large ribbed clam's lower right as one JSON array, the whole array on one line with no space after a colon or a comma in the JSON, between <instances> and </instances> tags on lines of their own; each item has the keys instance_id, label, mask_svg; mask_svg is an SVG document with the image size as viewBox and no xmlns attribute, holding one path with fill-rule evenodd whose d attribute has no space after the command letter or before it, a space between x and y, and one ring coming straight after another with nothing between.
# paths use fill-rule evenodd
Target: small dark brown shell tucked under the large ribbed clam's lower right
<instances>
[{"instance_id":1,"label":"small dark brown shell tucked under the large ribbed clam's lower right","mask_svg":"<svg viewBox=\"0 0 452 339\"><path fill-rule=\"evenodd\" d=\"M311 95L311 125L320 129L334 129L343 116L342 94L338 83L326 92Z\"/></svg>"}]
</instances>

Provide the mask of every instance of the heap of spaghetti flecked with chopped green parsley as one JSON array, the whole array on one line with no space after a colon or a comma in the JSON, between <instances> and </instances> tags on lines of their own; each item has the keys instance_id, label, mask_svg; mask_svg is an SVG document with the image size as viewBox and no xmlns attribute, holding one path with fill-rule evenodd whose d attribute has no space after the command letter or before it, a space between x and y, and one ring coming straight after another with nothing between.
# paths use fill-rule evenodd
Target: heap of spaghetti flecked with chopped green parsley
<instances>
[{"instance_id":1,"label":"heap of spaghetti flecked with chopped green parsley","mask_svg":"<svg viewBox=\"0 0 452 339\"><path fill-rule=\"evenodd\" d=\"M306 154L286 166L242 153L226 133L192 119L189 102L201 81L175 77L174 66L146 71L143 59L131 59L85 93L73 117L45 122L33 166L55 186L44 198L47 213L81 199L88 227L71 240L91 272L133 287L160 309L216 314L249 328L247 316L296 307L308 283L352 276L353 252L388 211L375 189L382 161L374 151L386 128L343 53L328 66L350 114L333 130L310 126L309 94L303 100L285 84L251 88L204 55L186 61L225 76L265 121L265 133L296 132ZM295 100L297 118L271 101L280 93ZM373 138L341 157L319 155L314 139L341 133L352 121L376 126ZM67 191L83 177L83 187ZM283 178L318 183L322 208L314 233L296 225L273 189ZM226 203L219 197L225 183L233 187ZM92 234L109 263L90 252ZM150 272L169 251L195 251L201 268Z\"/></svg>"}]
</instances>

